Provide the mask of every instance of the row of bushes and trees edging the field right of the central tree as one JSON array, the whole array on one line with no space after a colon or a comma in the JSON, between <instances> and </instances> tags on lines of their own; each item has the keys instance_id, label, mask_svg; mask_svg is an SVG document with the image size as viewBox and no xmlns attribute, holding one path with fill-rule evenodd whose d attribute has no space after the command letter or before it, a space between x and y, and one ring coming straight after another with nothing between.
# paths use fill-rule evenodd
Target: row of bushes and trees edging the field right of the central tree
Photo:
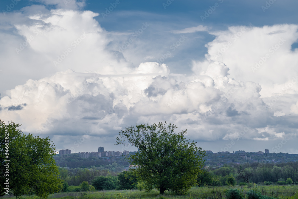
<instances>
[{"instance_id":1,"label":"row of bushes and trees edging the field right of the central tree","mask_svg":"<svg viewBox=\"0 0 298 199\"><path fill-rule=\"evenodd\" d=\"M229 164L214 169L207 167L198 177L198 183L208 186L228 185L234 183L264 183L264 181L277 183L288 178L298 182L298 161L288 163L245 163L242 165ZM231 184L231 183L230 183Z\"/></svg>"}]
</instances>

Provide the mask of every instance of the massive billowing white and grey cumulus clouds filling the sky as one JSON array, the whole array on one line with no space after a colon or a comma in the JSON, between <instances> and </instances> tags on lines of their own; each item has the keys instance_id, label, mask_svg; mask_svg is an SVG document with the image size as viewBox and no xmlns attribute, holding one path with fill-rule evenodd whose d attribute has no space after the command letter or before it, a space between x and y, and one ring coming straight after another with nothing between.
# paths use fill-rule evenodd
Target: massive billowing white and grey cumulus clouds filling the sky
<instances>
[{"instance_id":1,"label":"massive billowing white and grey cumulus clouds filling the sky","mask_svg":"<svg viewBox=\"0 0 298 199\"><path fill-rule=\"evenodd\" d=\"M98 24L97 13L80 11L84 1L69 9L60 1L40 2L57 9L25 7L1 18L0 26L6 49L0 58L12 65L0 75L13 85L1 87L7 91L0 118L23 124L24 132L50 135L60 148L76 140L112 143L129 125L160 121L187 129L198 141L296 136L297 50L291 45L297 25L212 32L206 58L193 61L192 74L171 74L166 64L135 66L111 50L113 33ZM206 30L200 25L173 33Z\"/></svg>"}]
</instances>

